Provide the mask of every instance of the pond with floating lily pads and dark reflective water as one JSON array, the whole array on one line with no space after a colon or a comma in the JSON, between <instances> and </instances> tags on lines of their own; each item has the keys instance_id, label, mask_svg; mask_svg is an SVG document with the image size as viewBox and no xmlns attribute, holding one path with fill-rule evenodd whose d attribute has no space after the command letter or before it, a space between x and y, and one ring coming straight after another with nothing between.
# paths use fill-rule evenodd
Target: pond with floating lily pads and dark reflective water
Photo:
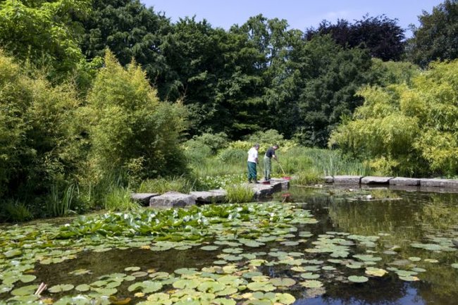
<instances>
[{"instance_id":1,"label":"pond with floating lily pads and dark reflective water","mask_svg":"<svg viewBox=\"0 0 458 305\"><path fill-rule=\"evenodd\" d=\"M458 194L386 189L3 226L0 304L452 305L454 239Z\"/></svg>"}]
</instances>

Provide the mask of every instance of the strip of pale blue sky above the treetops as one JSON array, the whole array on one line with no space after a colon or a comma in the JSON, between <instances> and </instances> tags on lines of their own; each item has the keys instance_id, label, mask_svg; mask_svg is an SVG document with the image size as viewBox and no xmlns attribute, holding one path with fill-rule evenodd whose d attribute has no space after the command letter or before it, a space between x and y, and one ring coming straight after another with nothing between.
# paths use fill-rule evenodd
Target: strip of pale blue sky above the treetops
<instances>
[{"instance_id":1,"label":"strip of pale blue sky above the treetops","mask_svg":"<svg viewBox=\"0 0 458 305\"><path fill-rule=\"evenodd\" d=\"M304 31L316 27L321 20L335 23L338 18L360 20L363 15L385 14L397 18L398 24L407 29L409 24L419 25L421 12L431 13L440 0L140 0L154 11L163 11L173 22L180 17L196 15L206 19L213 27L228 29L235 23L242 25L253 15L262 13L267 18L286 19L290 28ZM411 36L410 31L406 32Z\"/></svg>"}]
</instances>

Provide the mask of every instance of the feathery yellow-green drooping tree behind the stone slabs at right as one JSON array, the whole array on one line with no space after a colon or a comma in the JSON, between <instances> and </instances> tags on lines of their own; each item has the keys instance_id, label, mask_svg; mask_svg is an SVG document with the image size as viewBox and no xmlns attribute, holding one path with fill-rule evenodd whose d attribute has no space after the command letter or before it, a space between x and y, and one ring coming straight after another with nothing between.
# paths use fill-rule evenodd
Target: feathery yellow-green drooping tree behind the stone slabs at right
<instances>
[{"instance_id":1,"label":"feathery yellow-green drooping tree behind the stone slabs at right","mask_svg":"<svg viewBox=\"0 0 458 305\"><path fill-rule=\"evenodd\" d=\"M412 84L366 87L354 119L340 125L330 145L363 158L385 174L455 175L458 61L435 63Z\"/></svg>"}]
</instances>

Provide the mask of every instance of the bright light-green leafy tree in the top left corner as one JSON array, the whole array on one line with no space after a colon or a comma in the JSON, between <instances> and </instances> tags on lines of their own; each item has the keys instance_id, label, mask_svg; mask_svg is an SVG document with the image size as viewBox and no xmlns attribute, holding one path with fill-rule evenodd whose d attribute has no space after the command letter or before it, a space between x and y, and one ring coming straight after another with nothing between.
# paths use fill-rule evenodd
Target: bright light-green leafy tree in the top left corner
<instances>
[{"instance_id":1,"label":"bright light-green leafy tree in the top left corner","mask_svg":"<svg viewBox=\"0 0 458 305\"><path fill-rule=\"evenodd\" d=\"M80 23L90 0L5 0L0 2L0 45L19 60L47 67L51 77L73 70L82 59Z\"/></svg>"}]
</instances>

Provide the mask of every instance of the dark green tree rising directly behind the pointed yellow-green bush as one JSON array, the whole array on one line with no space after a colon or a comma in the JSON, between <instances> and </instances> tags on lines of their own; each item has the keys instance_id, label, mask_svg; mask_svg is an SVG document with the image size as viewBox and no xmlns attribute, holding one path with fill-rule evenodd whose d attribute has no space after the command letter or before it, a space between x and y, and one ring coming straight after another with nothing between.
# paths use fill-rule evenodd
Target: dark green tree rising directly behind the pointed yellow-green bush
<instances>
[{"instance_id":1,"label":"dark green tree rising directly behind the pointed yellow-green bush","mask_svg":"<svg viewBox=\"0 0 458 305\"><path fill-rule=\"evenodd\" d=\"M162 51L163 39L172 30L168 18L139 0L93 0L83 24L81 48L87 58L103 57L109 48L123 66L135 59L158 87L161 99L166 99L168 82L173 84Z\"/></svg>"}]
</instances>

